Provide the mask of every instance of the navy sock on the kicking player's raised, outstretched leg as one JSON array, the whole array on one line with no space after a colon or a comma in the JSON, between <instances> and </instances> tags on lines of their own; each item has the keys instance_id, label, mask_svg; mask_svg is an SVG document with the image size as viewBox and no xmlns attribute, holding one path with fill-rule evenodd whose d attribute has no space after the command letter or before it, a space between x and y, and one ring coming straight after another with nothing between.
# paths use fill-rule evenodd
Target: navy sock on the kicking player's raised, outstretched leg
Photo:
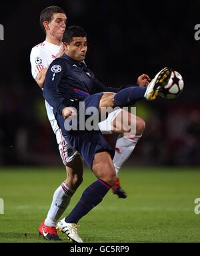
<instances>
[{"instance_id":1,"label":"navy sock on the kicking player's raised, outstretched leg","mask_svg":"<svg viewBox=\"0 0 200 256\"><path fill-rule=\"evenodd\" d=\"M147 87L133 86L125 88L115 94L115 106L130 106L135 104L137 100L144 98Z\"/></svg>"}]
</instances>

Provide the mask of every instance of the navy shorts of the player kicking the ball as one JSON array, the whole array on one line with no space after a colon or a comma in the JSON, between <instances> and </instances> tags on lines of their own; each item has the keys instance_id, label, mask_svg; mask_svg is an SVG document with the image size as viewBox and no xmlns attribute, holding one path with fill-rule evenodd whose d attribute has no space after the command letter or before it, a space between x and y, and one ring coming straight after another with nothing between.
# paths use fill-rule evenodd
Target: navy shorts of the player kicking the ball
<instances>
[{"instance_id":1,"label":"navy shorts of the player kicking the ball","mask_svg":"<svg viewBox=\"0 0 200 256\"><path fill-rule=\"evenodd\" d=\"M99 101L101 100L101 96L103 92L98 94L93 94L91 96L86 97L82 102L85 103L85 109L89 107L99 107ZM77 106L77 116L79 120L79 106ZM99 114L99 112L97 113ZM85 116L86 120L87 116ZM101 134L100 130L71 130L67 131L64 128L64 118L61 115L57 115L57 121L59 122L59 126L62 130L63 136L65 140L71 146L77 150L86 164L91 168L93 165L93 159L97 152L107 151L111 154L111 158L113 158L115 154L115 150L108 144L105 140L104 136Z\"/></svg>"}]
</instances>

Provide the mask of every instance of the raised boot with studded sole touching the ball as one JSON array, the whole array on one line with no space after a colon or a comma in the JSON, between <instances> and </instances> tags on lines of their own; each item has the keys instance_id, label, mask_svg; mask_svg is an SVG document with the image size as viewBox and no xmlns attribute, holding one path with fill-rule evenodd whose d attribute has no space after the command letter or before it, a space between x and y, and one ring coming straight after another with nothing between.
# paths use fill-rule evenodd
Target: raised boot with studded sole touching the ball
<instances>
[{"instance_id":1,"label":"raised boot with studded sole touching the ball","mask_svg":"<svg viewBox=\"0 0 200 256\"><path fill-rule=\"evenodd\" d=\"M171 72L172 70L170 68L163 68L163 70L151 80L145 92L145 98L147 100L155 100L155 98L157 98L159 90L169 82Z\"/></svg>"}]
</instances>

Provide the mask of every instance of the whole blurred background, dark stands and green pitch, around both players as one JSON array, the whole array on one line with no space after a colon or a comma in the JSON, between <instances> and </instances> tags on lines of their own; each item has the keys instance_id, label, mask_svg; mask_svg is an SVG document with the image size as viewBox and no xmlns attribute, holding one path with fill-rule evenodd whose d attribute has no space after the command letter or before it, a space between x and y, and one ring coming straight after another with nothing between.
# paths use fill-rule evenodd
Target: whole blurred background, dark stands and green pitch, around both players
<instances>
[{"instance_id":1,"label":"whole blurred background, dark stands and green pitch, around both players","mask_svg":"<svg viewBox=\"0 0 200 256\"><path fill-rule=\"evenodd\" d=\"M100 215L92 211L83 219L81 234L86 241L199 241L199 216L193 209L200 197L200 41L194 37L200 1L171 0L1 3L5 38L0 41L0 197L5 199L6 214L1 215L0 241L41 241L39 221L65 177L29 62L31 47L45 38L39 15L49 5L66 10L68 26L81 25L88 32L87 65L107 86L134 84L143 73L153 78L165 66L180 72L185 82L175 100L137 103L146 130L121 172L129 197L113 201L109 193L95 209L104 214L102 219L98 222ZM91 172L84 177L69 209L94 180ZM111 237L102 237L101 221ZM123 221L123 230L119 231L117 221ZM87 223L97 225L96 236ZM27 232L31 235L25 237Z\"/></svg>"}]
</instances>

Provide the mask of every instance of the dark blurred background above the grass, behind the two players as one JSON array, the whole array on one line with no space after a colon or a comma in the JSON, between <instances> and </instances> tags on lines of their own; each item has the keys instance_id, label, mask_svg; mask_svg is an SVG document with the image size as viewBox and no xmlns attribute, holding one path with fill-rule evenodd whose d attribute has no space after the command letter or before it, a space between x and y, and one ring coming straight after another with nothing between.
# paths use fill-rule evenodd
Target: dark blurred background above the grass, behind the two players
<instances>
[{"instance_id":1,"label":"dark blurred background above the grass, behind the two players","mask_svg":"<svg viewBox=\"0 0 200 256\"><path fill-rule=\"evenodd\" d=\"M45 39L39 15L49 5L67 13L67 26L88 33L86 62L107 86L134 84L165 66L183 76L175 100L138 102L146 121L143 138L129 164L200 164L199 67L200 1L5 1L0 23L0 164L61 164L47 120L41 89L31 76L31 48ZM112 139L113 142L113 139Z\"/></svg>"}]
</instances>

